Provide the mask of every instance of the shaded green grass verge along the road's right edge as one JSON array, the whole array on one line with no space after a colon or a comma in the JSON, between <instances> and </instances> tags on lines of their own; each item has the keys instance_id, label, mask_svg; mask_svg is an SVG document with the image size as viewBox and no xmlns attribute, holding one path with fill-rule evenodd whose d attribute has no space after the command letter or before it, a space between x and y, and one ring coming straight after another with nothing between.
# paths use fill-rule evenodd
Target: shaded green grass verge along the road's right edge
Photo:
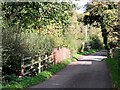
<instances>
[{"instance_id":1,"label":"shaded green grass verge along the road's right edge","mask_svg":"<svg viewBox=\"0 0 120 90\"><path fill-rule=\"evenodd\" d=\"M106 61L109 65L114 88L118 88L118 90L120 90L120 73L118 61L115 58L106 58L103 61Z\"/></svg>"}]
</instances>

